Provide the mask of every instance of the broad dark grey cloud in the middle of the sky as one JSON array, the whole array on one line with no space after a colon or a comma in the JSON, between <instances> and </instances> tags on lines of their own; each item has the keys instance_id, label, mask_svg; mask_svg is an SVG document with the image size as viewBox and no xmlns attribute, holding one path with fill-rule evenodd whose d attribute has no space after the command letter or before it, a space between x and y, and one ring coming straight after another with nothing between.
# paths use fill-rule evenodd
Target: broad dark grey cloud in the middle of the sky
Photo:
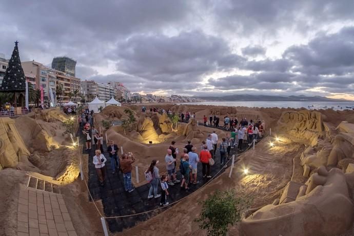
<instances>
[{"instance_id":1,"label":"broad dark grey cloud in the middle of the sky","mask_svg":"<svg viewBox=\"0 0 354 236\"><path fill-rule=\"evenodd\" d=\"M221 38L201 31L179 35L134 35L109 55L117 69L153 81L200 81L201 75L237 67L243 57L230 53Z\"/></svg>"}]
</instances>

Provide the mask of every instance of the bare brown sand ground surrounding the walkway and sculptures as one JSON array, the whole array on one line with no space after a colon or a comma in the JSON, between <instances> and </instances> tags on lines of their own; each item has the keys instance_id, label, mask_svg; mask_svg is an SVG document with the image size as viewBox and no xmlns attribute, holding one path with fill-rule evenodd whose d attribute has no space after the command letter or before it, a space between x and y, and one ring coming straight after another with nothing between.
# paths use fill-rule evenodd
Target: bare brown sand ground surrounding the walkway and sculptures
<instances>
[{"instance_id":1,"label":"bare brown sand ground surrounding the walkway and sculptures","mask_svg":"<svg viewBox=\"0 0 354 236\"><path fill-rule=\"evenodd\" d=\"M178 131L169 133L161 132L161 129L155 131L159 136L161 143L146 144L137 139L139 130L136 124L126 131L115 126L109 130L105 130L102 121L119 121L127 119L124 112L125 109L133 111L136 120L142 115L141 107L147 108L147 114L152 117L153 113L149 112L148 104L130 105L129 107L113 107L105 108L102 113L95 114L95 126L101 127L103 134L107 134L109 140L114 140L119 146L124 147L124 152L133 152L137 161L134 163L140 171L140 180L144 180L143 171L146 170L151 160L160 160L159 164L161 172L164 172L164 157L166 149L172 140L176 141L176 147L183 149L187 144L187 136L183 135L186 124L180 123ZM278 120L284 111L299 111L300 109L285 108L247 108L247 107L216 107L205 105L174 105L174 104L151 104L153 107L171 109L175 113L179 112L195 112L196 120L202 122L203 116L210 114L218 114L220 116L220 125L223 125L224 115L238 117L239 121L242 117L255 117L257 120L264 120L266 131L272 129L272 133L282 136L280 142L275 147L270 147L269 142L273 139L267 137L255 146L255 150L249 150L242 154L240 161L235 164L231 179L228 178L230 167L218 178L213 180L204 188L194 192L183 202L173 205L168 210L156 215L155 217L143 222L131 229L113 235L206 235L204 230L200 230L193 220L198 216L201 207L198 201L205 200L208 194L215 189L226 190L233 188L238 195L247 196L253 199L252 207L262 207L271 204L274 200L279 199L284 187L292 180L304 184L307 178L303 176L303 169L300 165L300 156L305 150L305 145L309 145L306 140L296 140L290 135L279 130ZM354 123L353 111L333 111L320 110L323 114L323 121L332 127L337 127L341 121ZM34 118L37 119L34 119ZM59 117L59 119L58 119ZM77 149L70 148L67 145L70 139L67 135L63 135L65 127L61 120L68 119L66 115L58 111L46 112L44 114L29 114L27 116L18 117L15 126L21 134L25 145L31 153L30 161L35 165L38 173L47 175L48 178L59 179L64 183L61 188L67 204L71 219L78 235L102 235L102 226L92 202L88 200L88 193L84 182L76 179L77 171ZM167 127L168 128L168 127ZM164 130L167 130L164 127ZM198 126L198 135L192 139L192 144L200 150L202 140L205 140L207 134L212 132L212 128ZM196 132L197 133L197 132ZM224 137L226 132L217 130L219 138ZM38 142L39 141L39 142ZM76 160L76 161L75 161ZM87 158L83 156L84 173L87 178ZM248 168L249 174L243 174L243 169ZM74 174L72 174L74 173ZM17 215L17 195L19 184L26 183L26 171L5 169L0 171L0 183L2 192L0 200L0 231L4 235L14 235L16 232ZM62 176L62 178L60 178ZM134 173L133 178L134 180ZM134 183L136 185L136 183ZM141 181L139 184L145 184ZM96 201L101 212L101 201ZM6 207L5 207L6 206ZM170 216L173 216L172 218ZM165 222L165 223L164 223ZM229 235L239 235L239 224L232 226ZM343 235L351 235L350 230Z\"/></svg>"}]
</instances>

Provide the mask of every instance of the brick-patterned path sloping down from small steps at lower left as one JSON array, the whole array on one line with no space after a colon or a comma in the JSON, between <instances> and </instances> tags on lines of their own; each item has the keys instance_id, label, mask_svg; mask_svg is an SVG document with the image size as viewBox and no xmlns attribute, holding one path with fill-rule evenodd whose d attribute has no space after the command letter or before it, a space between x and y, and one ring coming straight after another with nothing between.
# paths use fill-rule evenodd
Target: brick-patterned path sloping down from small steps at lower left
<instances>
[{"instance_id":1,"label":"brick-patterned path sloping down from small steps at lower left","mask_svg":"<svg viewBox=\"0 0 354 236\"><path fill-rule=\"evenodd\" d=\"M61 194L21 186L17 212L18 236L76 236Z\"/></svg>"}]
</instances>

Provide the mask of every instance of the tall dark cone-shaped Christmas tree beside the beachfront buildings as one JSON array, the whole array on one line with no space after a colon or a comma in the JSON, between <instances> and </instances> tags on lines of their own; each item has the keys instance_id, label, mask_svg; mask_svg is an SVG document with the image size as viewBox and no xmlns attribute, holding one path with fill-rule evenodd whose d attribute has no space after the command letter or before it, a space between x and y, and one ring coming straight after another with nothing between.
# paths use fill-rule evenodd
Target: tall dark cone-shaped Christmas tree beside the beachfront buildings
<instances>
[{"instance_id":1,"label":"tall dark cone-shaped Christmas tree beside the beachfront buildings","mask_svg":"<svg viewBox=\"0 0 354 236\"><path fill-rule=\"evenodd\" d=\"M26 78L24 70L21 66L18 54L18 42L15 42L9 66L6 69L3 84L0 85L0 92L25 92L26 91Z\"/></svg>"}]
</instances>

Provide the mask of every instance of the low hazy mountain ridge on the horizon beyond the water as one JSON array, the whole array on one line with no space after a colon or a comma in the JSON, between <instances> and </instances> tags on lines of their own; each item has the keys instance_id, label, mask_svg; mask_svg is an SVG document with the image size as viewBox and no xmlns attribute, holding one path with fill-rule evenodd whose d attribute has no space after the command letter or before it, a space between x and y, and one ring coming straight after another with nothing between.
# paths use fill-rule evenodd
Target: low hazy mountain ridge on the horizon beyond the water
<instances>
[{"instance_id":1,"label":"low hazy mountain ridge on the horizon beyond the water","mask_svg":"<svg viewBox=\"0 0 354 236\"><path fill-rule=\"evenodd\" d=\"M270 95L250 95L234 94L227 96L194 96L205 101L293 101L293 102L353 102L345 99L329 99L324 96L270 96Z\"/></svg>"}]
</instances>

